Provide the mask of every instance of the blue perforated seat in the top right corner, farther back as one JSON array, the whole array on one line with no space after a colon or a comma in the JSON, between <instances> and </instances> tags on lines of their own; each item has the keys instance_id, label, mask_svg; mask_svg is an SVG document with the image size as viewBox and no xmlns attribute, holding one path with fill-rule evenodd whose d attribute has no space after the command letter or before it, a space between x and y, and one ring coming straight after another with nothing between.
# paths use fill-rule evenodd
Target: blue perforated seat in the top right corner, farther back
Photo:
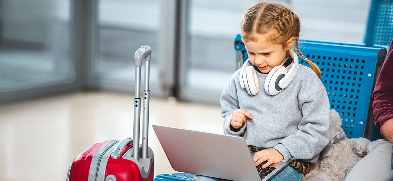
<instances>
[{"instance_id":1,"label":"blue perforated seat in the top right corner, farther back","mask_svg":"<svg viewBox=\"0 0 393 181\"><path fill-rule=\"evenodd\" d=\"M364 43L390 45L393 39L393 1L372 0Z\"/></svg>"}]
</instances>

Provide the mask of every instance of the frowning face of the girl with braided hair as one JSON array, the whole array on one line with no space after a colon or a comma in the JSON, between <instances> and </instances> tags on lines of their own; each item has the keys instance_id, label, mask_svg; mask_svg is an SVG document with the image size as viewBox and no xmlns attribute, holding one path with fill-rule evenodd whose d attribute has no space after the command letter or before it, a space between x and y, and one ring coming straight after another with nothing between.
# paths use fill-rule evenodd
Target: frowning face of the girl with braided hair
<instances>
[{"instance_id":1,"label":"frowning face of the girl with braided hair","mask_svg":"<svg viewBox=\"0 0 393 181\"><path fill-rule=\"evenodd\" d=\"M263 73L268 73L273 67L283 63L286 51L290 49L294 39L290 38L285 48L282 45L266 42L268 41L263 41L263 39L257 42L244 42L250 62Z\"/></svg>"}]
</instances>

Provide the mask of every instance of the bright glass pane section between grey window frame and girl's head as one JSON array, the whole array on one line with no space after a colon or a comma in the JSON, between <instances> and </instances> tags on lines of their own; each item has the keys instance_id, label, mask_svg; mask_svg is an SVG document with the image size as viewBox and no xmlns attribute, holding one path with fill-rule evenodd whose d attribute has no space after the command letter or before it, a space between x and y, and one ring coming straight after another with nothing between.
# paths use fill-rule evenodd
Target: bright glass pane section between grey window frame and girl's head
<instances>
[{"instance_id":1,"label":"bright glass pane section between grey window frame and girl's head","mask_svg":"<svg viewBox=\"0 0 393 181\"><path fill-rule=\"evenodd\" d=\"M253 0L191 0L188 9L185 86L221 92L236 68L234 38Z\"/></svg>"}]
</instances>

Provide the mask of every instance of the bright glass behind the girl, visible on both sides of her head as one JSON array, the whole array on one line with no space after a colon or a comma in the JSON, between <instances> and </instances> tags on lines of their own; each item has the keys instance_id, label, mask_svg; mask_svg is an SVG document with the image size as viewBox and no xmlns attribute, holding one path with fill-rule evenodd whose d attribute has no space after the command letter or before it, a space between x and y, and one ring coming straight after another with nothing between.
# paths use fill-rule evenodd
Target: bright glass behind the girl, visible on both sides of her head
<instances>
[{"instance_id":1,"label":"bright glass behind the girl, visible on both sides of her head","mask_svg":"<svg viewBox=\"0 0 393 181\"><path fill-rule=\"evenodd\" d=\"M361 43L370 0L282 0L301 19L304 39ZM234 38L254 0L190 0L187 10L185 87L221 92L237 70Z\"/></svg>"}]
</instances>

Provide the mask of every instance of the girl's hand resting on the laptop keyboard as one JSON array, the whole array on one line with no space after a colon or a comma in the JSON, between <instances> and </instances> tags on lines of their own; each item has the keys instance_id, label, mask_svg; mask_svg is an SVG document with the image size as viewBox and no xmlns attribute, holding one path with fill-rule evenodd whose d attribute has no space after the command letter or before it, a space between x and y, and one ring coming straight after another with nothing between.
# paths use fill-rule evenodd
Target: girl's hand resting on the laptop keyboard
<instances>
[{"instance_id":1,"label":"girl's hand resting on the laptop keyboard","mask_svg":"<svg viewBox=\"0 0 393 181\"><path fill-rule=\"evenodd\" d=\"M254 160L255 166L258 166L264 161L268 161L265 165L262 165L262 168L266 168L274 163L279 163L284 159L284 156L276 149L266 149L256 152L252 159Z\"/></svg>"}]
</instances>

